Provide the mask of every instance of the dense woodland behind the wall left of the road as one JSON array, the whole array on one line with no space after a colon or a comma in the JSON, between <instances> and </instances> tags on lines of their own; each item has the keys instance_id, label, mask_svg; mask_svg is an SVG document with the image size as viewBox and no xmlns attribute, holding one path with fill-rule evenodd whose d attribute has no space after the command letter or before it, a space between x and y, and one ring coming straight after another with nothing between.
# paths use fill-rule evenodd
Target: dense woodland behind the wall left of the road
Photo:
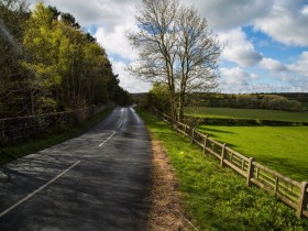
<instances>
[{"instance_id":1,"label":"dense woodland behind the wall left of the road","mask_svg":"<svg viewBox=\"0 0 308 231\"><path fill-rule=\"evenodd\" d=\"M0 0L0 118L130 103L106 51L70 13Z\"/></svg>"}]
</instances>

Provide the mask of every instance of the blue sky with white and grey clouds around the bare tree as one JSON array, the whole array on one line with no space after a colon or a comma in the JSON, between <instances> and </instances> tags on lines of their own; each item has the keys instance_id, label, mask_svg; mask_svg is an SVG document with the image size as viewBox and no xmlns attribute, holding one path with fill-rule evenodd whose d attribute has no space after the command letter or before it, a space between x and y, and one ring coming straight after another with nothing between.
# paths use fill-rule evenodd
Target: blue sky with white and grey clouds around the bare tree
<instances>
[{"instance_id":1,"label":"blue sky with white and grey clouds around the bare tree","mask_svg":"<svg viewBox=\"0 0 308 231\"><path fill-rule=\"evenodd\" d=\"M213 30L223 51L217 91L308 92L308 0L179 0L195 6ZM36 0L30 0L36 3ZM152 85L131 76L125 67L136 59L125 34L136 30L140 0L44 0L72 13L105 47L130 92L147 92Z\"/></svg>"}]
</instances>

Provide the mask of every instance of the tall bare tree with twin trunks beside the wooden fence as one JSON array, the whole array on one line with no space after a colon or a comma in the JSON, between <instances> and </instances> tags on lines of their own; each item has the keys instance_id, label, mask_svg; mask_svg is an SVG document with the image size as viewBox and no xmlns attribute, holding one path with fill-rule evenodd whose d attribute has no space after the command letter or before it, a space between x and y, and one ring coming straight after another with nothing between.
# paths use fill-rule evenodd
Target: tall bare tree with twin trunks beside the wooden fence
<instances>
[{"instance_id":1,"label":"tall bare tree with twin trunks beside the wooden fence","mask_svg":"<svg viewBox=\"0 0 308 231\"><path fill-rule=\"evenodd\" d=\"M206 19L177 0L142 0L136 23L138 32L128 37L139 59L129 69L151 82L167 84L172 117L182 120L188 92L217 86L219 42Z\"/></svg>"}]
</instances>

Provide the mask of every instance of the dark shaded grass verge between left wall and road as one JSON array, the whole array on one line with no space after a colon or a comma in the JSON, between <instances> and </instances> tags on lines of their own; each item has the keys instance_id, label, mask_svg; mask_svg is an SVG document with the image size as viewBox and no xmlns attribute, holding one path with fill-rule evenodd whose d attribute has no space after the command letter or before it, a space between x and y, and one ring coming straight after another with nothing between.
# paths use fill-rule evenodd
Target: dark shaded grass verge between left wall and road
<instances>
[{"instance_id":1,"label":"dark shaded grass verge between left wall and road","mask_svg":"<svg viewBox=\"0 0 308 231\"><path fill-rule=\"evenodd\" d=\"M65 142L69 139L76 138L95 124L100 122L103 118L106 118L112 109L103 110L94 117L86 120L84 123L78 127L72 128L64 132L46 132L40 134L40 138L29 139L26 141L16 142L4 147L0 148L0 165L8 163L10 161L20 158L22 156L38 152L44 148L48 148L58 143Z\"/></svg>"}]
</instances>

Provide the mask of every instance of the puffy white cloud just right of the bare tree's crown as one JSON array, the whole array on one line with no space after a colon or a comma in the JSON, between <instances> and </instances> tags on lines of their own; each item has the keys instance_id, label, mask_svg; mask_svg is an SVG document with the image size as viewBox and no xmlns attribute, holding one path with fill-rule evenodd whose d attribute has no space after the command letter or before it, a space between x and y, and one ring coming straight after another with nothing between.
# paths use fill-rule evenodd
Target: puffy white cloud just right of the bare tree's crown
<instances>
[{"instance_id":1,"label":"puffy white cloud just right of the bare tree's crown","mask_svg":"<svg viewBox=\"0 0 308 231\"><path fill-rule=\"evenodd\" d=\"M262 61L251 42L246 40L245 33L241 29L233 29L219 34L222 43L227 43L227 47L222 52L222 57L234 62L240 66L254 66Z\"/></svg>"}]
</instances>

